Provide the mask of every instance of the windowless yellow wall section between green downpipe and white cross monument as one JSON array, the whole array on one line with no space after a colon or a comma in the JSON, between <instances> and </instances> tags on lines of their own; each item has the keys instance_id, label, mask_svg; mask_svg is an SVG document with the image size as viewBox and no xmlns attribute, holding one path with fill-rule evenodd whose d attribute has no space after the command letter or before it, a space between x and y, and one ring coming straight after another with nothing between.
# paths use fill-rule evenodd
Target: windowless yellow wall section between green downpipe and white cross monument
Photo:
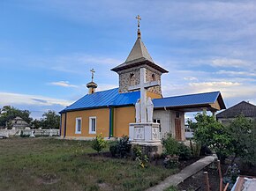
<instances>
[{"instance_id":1,"label":"windowless yellow wall section between green downpipe and white cross monument","mask_svg":"<svg viewBox=\"0 0 256 191\"><path fill-rule=\"evenodd\" d=\"M114 111L114 136L129 136L129 123L135 122L135 107L117 107Z\"/></svg>"}]
</instances>

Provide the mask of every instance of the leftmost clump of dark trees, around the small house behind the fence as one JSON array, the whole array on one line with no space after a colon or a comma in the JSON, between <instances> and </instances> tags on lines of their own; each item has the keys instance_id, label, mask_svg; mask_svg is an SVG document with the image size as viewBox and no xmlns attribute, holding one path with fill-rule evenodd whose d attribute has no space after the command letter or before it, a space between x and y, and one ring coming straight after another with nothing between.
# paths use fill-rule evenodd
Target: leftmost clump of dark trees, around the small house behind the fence
<instances>
[{"instance_id":1,"label":"leftmost clump of dark trees, around the small house behind the fence","mask_svg":"<svg viewBox=\"0 0 256 191\"><path fill-rule=\"evenodd\" d=\"M28 110L19 110L15 107L5 106L2 108L2 114L0 115L0 126L7 125L7 128L11 126L11 120L15 117L21 117L28 124L32 121L32 118L29 117L30 112Z\"/></svg>"}]
</instances>

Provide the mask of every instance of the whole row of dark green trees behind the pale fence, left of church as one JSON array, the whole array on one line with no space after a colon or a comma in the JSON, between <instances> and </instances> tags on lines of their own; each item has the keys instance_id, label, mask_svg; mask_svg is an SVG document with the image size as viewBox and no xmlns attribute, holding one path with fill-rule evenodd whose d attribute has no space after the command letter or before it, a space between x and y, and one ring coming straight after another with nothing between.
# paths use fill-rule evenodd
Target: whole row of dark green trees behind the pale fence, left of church
<instances>
[{"instance_id":1,"label":"whole row of dark green trees behind the pale fence, left of church","mask_svg":"<svg viewBox=\"0 0 256 191\"><path fill-rule=\"evenodd\" d=\"M0 127L11 128L11 121L16 117L22 118L23 121L33 129L59 129L60 115L55 111L49 110L42 114L40 120L33 119L28 110L20 110L16 107L5 106L1 109Z\"/></svg>"}]
</instances>

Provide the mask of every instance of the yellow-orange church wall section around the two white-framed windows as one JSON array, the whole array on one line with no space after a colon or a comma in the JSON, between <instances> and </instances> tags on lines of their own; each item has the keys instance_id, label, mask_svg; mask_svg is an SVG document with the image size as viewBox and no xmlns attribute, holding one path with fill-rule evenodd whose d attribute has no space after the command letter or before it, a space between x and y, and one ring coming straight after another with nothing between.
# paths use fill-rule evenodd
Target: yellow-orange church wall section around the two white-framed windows
<instances>
[{"instance_id":1,"label":"yellow-orange church wall section around the two white-framed windows","mask_svg":"<svg viewBox=\"0 0 256 191\"><path fill-rule=\"evenodd\" d=\"M96 134L89 134L89 117L96 117ZM76 118L80 117L81 133L76 134ZM109 108L74 111L67 113L66 136L94 137L102 133L103 137L109 136Z\"/></svg>"}]
</instances>

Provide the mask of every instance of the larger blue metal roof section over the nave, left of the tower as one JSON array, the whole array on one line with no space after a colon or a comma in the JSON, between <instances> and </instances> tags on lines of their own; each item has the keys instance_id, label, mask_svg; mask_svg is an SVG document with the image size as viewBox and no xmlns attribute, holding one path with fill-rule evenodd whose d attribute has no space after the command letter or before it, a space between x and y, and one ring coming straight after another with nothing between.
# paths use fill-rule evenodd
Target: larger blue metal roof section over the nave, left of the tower
<instances>
[{"instance_id":1,"label":"larger blue metal roof section over the nave, left of the tower","mask_svg":"<svg viewBox=\"0 0 256 191\"><path fill-rule=\"evenodd\" d=\"M139 92L118 93L118 88L87 94L66 107L61 113L73 110L82 110L98 107L122 107L134 105L139 99Z\"/></svg>"}]
</instances>

